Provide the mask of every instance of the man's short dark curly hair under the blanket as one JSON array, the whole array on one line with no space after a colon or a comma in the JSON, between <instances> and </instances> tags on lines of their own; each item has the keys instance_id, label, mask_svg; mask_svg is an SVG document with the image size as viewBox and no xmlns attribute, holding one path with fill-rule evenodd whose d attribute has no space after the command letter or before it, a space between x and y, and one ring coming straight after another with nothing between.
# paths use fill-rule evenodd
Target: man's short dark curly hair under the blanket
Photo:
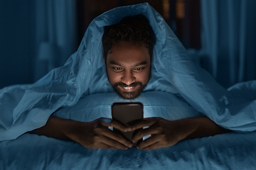
<instances>
[{"instance_id":1,"label":"man's short dark curly hair under the blanket","mask_svg":"<svg viewBox=\"0 0 256 170\"><path fill-rule=\"evenodd\" d=\"M144 45L149 49L151 56L156 43L156 35L145 16L126 16L117 24L105 26L102 44L106 57L112 46L119 42L129 42L138 46Z\"/></svg>"}]
</instances>

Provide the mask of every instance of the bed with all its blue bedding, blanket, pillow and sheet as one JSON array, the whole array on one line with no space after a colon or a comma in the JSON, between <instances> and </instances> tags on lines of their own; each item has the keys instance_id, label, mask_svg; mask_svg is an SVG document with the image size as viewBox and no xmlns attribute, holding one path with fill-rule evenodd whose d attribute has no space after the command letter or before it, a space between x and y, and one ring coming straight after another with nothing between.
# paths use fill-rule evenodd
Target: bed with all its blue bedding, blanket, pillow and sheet
<instances>
[{"instance_id":1,"label":"bed with all its blue bedding, blanket, pillow and sheet","mask_svg":"<svg viewBox=\"0 0 256 170\"><path fill-rule=\"evenodd\" d=\"M86 149L75 142L31 135L50 115L80 121L111 118L119 98L102 59L104 26L144 14L156 32L151 79L132 100L144 117L169 120L206 115L233 132L178 142L152 151ZM256 81L220 86L193 65L164 19L149 4L112 9L87 28L78 52L35 84L0 90L0 169L255 169Z\"/></svg>"}]
</instances>

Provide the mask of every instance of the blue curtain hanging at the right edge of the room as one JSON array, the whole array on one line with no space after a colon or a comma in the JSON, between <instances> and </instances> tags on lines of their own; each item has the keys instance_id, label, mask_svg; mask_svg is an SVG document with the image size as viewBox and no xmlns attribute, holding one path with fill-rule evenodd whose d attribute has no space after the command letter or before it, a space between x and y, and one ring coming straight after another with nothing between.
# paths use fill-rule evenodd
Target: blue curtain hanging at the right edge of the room
<instances>
[{"instance_id":1,"label":"blue curtain hanging at the right edge of the room","mask_svg":"<svg viewBox=\"0 0 256 170\"><path fill-rule=\"evenodd\" d=\"M256 1L201 0L204 67L223 86L256 79Z\"/></svg>"}]
</instances>

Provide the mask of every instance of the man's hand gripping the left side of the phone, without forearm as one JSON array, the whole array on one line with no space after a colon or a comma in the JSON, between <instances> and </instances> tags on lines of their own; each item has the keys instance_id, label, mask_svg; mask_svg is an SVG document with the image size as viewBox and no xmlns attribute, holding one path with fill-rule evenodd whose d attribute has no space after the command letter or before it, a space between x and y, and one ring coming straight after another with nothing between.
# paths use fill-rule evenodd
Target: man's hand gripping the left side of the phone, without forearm
<instances>
[{"instance_id":1,"label":"man's hand gripping the left side of the phone, without forearm","mask_svg":"<svg viewBox=\"0 0 256 170\"><path fill-rule=\"evenodd\" d=\"M99 118L90 123L76 124L75 128L69 128L64 133L71 140L89 149L126 150L132 147L132 142L129 142L120 132L110 130L109 127L127 132L125 130L127 127L122 123L108 118Z\"/></svg>"}]
</instances>

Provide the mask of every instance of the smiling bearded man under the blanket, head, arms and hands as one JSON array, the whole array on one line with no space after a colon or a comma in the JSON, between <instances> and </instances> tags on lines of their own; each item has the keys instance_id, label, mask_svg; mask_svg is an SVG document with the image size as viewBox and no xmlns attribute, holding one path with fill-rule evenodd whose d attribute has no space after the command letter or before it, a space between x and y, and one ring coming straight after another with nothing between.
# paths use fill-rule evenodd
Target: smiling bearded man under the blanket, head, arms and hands
<instances>
[{"instance_id":1,"label":"smiling bearded man under the blanket, head, arms and hands","mask_svg":"<svg viewBox=\"0 0 256 170\"><path fill-rule=\"evenodd\" d=\"M122 98L137 98L149 81L155 39L149 21L142 15L124 17L117 24L105 27L102 43L107 77ZM127 132L146 126L149 128L137 131L132 139L132 142L137 142L142 137L151 135L138 142L138 149L169 147L181 140L228 132L206 117L172 121L146 118L126 127L107 118L82 123L50 116L46 125L31 133L73 140L90 149L125 150L132 147L132 142L109 127Z\"/></svg>"}]
</instances>

